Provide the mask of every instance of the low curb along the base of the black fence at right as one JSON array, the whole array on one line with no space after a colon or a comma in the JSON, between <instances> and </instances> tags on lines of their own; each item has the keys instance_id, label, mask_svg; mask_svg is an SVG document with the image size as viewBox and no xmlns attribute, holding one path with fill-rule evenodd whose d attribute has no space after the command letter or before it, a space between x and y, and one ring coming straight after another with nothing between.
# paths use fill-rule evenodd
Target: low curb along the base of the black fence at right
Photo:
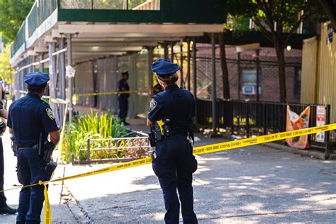
<instances>
[{"instance_id":1,"label":"low curb along the base of the black fence at right","mask_svg":"<svg viewBox=\"0 0 336 224\"><path fill-rule=\"evenodd\" d=\"M285 152L291 152L293 154L296 154L296 155L301 155L301 156L304 156L304 157L311 157L311 158L315 158L315 159L336 159L336 155L330 155L330 157L328 158L327 155L325 155L324 152L319 152L318 150L297 150L297 149L294 149L292 147L288 147L286 145L279 145L279 144L276 144L276 143L272 143L272 142L269 142L269 143L264 143L262 144L266 147L271 147L275 150L281 150L281 151L285 151Z\"/></svg>"}]
</instances>

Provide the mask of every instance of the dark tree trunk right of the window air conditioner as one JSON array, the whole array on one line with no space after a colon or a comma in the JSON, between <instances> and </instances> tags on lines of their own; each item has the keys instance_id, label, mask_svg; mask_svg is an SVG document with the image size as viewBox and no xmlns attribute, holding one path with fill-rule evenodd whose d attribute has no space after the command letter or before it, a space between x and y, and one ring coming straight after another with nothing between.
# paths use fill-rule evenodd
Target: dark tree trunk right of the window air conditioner
<instances>
[{"instance_id":1,"label":"dark tree trunk right of the window air conditioner","mask_svg":"<svg viewBox=\"0 0 336 224\"><path fill-rule=\"evenodd\" d=\"M278 72L279 72L279 88L280 88L280 102L286 103L286 73L285 73L285 54L284 47L275 44L276 56L278 57Z\"/></svg>"}]
</instances>

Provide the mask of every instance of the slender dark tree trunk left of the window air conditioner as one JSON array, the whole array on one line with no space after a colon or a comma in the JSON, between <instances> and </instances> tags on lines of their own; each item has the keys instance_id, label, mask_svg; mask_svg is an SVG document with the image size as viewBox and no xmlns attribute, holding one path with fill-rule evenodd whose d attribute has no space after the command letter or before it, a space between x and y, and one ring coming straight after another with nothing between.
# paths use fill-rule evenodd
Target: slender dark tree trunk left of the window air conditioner
<instances>
[{"instance_id":1,"label":"slender dark tree trunk left of the window air conditioner","mask_svg":"<svg viewBox=\"0 0 336 224\"><path fill-rule=\"evenodd\" d=\"M225 39L224 34L219 34L220 46L220 65L222 67L222 81L223 81L223 99L230 99L230 84L228 74L228 64L226 63Z\"/></svg>"}]
</instances>

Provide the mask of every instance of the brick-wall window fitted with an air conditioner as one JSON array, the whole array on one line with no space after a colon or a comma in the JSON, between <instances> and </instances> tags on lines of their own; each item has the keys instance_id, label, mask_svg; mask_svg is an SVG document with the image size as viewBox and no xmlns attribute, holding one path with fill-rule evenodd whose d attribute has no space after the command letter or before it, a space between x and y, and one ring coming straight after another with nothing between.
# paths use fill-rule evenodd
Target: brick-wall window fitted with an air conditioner
<instances>
[{"instance_id":1,"label":"brick-wall window fitted with an air conditioner","mask_svg":"<svg viewBox=\"0 0 336 224\"><path fill-rule=\"evenodd\" d=\"M261 74L259 72L259 74ZM255 95L257 94L257 70L242 69L242 94ZM259 95L261 94L260 77L259 77Z\"/></svg>"}]
</instances>

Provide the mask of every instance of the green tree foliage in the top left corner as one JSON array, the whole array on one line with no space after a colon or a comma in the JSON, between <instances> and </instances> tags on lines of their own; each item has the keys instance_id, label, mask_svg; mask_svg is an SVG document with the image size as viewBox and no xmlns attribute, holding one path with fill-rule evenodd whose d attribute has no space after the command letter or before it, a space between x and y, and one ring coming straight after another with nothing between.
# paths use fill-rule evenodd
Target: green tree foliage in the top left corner
<instances>
[{"instance_id":1,"label":"green tree foliage in the top left corner","mask_svg":"<svg viewBox=\"0 0 336 224\"><path fill-rule=\"evenodd\" d=\"M35 0L0 0L0 33L15 40Z\"/></svg>"}]
</instances>

